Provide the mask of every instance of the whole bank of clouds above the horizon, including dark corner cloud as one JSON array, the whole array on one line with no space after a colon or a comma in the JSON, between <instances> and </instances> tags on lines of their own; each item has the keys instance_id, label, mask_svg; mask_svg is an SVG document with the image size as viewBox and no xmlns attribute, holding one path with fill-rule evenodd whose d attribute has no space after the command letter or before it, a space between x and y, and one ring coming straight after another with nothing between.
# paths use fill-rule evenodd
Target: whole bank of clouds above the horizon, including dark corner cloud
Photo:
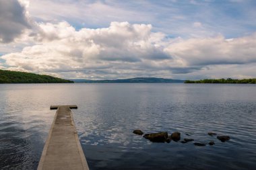
<instances>
[{"instance_id":1,"label":"whole bank of clouds above the horizon, including dark corner cloud","mask_svg":"<svg viewBox=\"0 0 256 170\"><path fill-rule=\"evenodd\" d=\"M72 79L255 77L256 33L232 39L220 34L170 38L153 32L151 24L128 22L77 30L65 21L33 21L18 1L0 0L3 6L0 49L8 43L20 44L20 50L1 51L0 69ZM200 28L201 23L192 27Z\"/></svg>"}]
</instances>

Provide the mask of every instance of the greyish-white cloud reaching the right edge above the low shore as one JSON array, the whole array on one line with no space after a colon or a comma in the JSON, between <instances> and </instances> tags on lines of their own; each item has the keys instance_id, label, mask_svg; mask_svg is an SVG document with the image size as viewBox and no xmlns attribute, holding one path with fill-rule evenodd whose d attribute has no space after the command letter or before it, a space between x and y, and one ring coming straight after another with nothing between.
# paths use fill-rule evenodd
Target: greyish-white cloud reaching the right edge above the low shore
<instances>
[{"instance_id":1,"label":"greyish-white cloud reaching the right edge above the low shore","mask_svg":"<svg viewBox=\"0 0 256 170\"><path fill-rule=\"evenodd\" d=\"M233 39L223 36L181 39L170 44L166 51L187 66L249 64L256 62L256 34Z\"/></svg>"}]
</instances>

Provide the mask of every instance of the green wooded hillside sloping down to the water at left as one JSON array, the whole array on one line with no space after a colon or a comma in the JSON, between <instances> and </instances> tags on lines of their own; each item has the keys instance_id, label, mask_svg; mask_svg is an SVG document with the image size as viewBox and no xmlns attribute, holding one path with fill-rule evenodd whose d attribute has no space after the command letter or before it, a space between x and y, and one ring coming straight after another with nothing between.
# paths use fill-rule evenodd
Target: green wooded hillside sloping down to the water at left
<instances>
[{"instance_id":1,"label":"green wooded hillside sloping down to the water at left","mask_svg":"<svg viewBox=\"0 0 256 170\"><path fill-rule=\"evenodd\" d=\"M0 70L0 83L73 83L73 81L49 75Z\"/></svg>"}]
</instances>

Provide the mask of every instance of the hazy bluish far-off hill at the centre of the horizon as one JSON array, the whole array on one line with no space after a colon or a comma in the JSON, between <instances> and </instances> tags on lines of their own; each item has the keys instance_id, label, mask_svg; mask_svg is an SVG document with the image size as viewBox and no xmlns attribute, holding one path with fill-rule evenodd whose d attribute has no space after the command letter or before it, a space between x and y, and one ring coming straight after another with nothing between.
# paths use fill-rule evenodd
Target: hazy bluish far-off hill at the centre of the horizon
<instances>
[{"instance_id":1,"label":"hazy bluish far-off hill at the centre of the horizon","mask_svg":"<svg viewBox=\"0 0 256 170\"><path fill-rule=\"evenodd\" d=\"M163 79L155 77L137 77L132 79L115 79L115 80L87 80L72 79L75 83L184 83L184 80Z\"/></svg>"}]
</instances>

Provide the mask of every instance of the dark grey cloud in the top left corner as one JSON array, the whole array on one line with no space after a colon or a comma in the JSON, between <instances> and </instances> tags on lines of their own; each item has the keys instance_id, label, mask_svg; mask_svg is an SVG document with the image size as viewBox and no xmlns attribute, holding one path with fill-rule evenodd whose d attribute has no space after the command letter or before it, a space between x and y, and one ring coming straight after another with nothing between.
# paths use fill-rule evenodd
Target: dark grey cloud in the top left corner
<instances>
[{"instance_id":1,"label":"dark grey cloud in the top left corner","mask_svg":"<svg viewBox=\"0 0 256 170\"><path fill-rule=\"evenodd\" d=\"M17 0L0 0L0 43L8 43L30 29L25 7Z\"/></svg>"}]
</instances>

